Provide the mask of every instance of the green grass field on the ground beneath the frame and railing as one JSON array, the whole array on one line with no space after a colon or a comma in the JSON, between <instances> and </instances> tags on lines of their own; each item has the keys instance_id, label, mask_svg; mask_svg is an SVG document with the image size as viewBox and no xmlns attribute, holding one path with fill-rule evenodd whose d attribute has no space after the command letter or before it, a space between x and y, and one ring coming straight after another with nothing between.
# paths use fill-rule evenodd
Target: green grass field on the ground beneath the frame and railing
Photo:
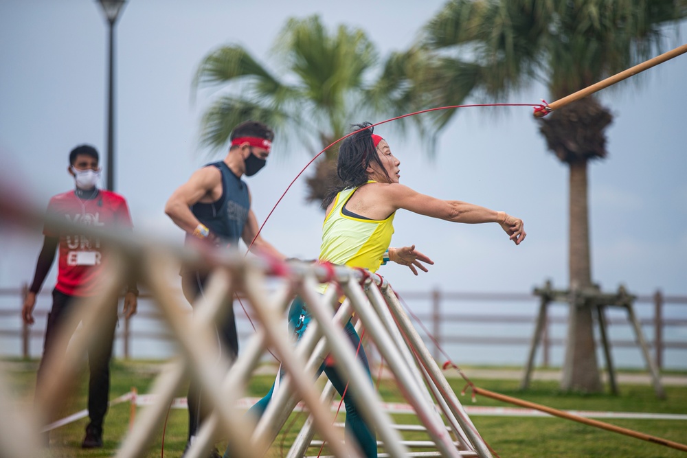
<instances>
[{"instance_id":1,"label":"green grass field on the ground beneath the frame and railing","mask_svg":"<svg viewBox=\"0 0 687 458\"><path fill-rule=\"evenodd\" d=\"M19 408L30 409L35 382L35 362L12 363L10 382ZM120 396L136 387L139 393L147 393L157 375L158 364L150 362L113 363L111 398ZM469 374L469 368L466 369ZM86 374L74 397L66 402L65 416L85 409ZM271 386L272 376L256 376L251 380L246 396L263 396ZM456 393L464 387L462 379L449 379ZM556 382L534 381L531 389L519 391L517 380L473 380L475 385L531 402L545 404L556 409L626 411L649 413L687 413L687 387L666 387L666 400L657 400L649 385L621 385L620 395L585 395L561 393ZM379 392L387 402L405 402L393 380L381 380ZM185 388L179 392L185 396ZM460 396L459 396L460 398ZM472 405L468 396L460 398L465 405ZM478 406L511 407L495 400L477 397ZM82 450L84 428L87 419L78 420L52 433L51 446L45 457L111 457L126 435L130 417L128 403L111 407L105 422L104 448ZM343 415L341 415L343 418ZM592 426L562 420L556 417L487 417L473 415L472 420L482 437L500 457L687 457L686 453L640 439L603 431ZM289 449L293 437L305 420L304 413L293 413L282 433L273 444L270 456L281 457ZM413 415L396 415L398 423L414 423ZM164 430L164 455L162 428L156 431L152 445L145 457L180 457L185 446L188 415L185 410L172 409ZM655 435L674 442L687 442L687 422L684 420L610 420L609 423ZM409 439L424 440L423 433L404 435ZM218 444L223 451L223 444ZM308 456L316 456L317 448ZM326 452L326 448L324 450Z\"/></svg>"}]
</instances>

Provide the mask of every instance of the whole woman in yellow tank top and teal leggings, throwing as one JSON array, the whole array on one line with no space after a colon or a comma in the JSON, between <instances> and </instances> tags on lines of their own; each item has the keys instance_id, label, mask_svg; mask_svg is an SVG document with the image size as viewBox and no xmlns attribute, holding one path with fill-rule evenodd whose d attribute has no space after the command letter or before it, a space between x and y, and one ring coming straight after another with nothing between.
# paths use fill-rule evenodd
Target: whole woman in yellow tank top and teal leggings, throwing
<instances>
[{"instance_id":1,"label":"whole woman in yellow tank top and teal leggings, throwing","mask_svg":"<svg viewBox=\"0 0 687 458\"><path fill-rule=\"evenodd\" d=\"M440 218L451 222L477 224L496 222L506 231L516 245L525 240L523 222L503 211L494 211L479 205L461 201L444 201L420 194L398 183L401 161L394 157L385 139L372 133L370 123L353 126L357 130L347 137L339 148L337 174L341 186L332 190L323 202L326 216L322 231L319 260L350 267L376 271L387 260L409 266L417 275L417 268L427 271L423 262L433 264L429 257L416 251L415 246L390 248L394 233L393 221L398 209ZM300 339L307 328L310 314L300 298L294 299L289 310L289 325ZM357 357L370 374L367 356L359 347L360 338L350 321L346 334ZM333 385L343 393L346 380L342 380L334 367L322 365ZM259 417L267 408L274 387L250 412ZM354 436L366 457L376 457L374 431L358 414L354 390L346 391L346 436ZM229 456L229 450L225 457Z\"/></svg>"}]
</instances>

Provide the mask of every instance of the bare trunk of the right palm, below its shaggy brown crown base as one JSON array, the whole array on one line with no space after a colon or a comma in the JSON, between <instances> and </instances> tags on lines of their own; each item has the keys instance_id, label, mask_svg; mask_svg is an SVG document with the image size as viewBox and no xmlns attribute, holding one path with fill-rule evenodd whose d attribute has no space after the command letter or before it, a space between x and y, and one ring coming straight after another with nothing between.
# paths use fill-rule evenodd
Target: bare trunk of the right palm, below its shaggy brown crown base
<instances>
[{"instance_id":1,"label":"bare trunk of the right palm, below its shaggy brown crown base","mask_svg":"<svg viewBox=\"0 0 687 458\"><path fill-rule=\"evenodd\" d=\"M592 286L589 262L589 208L587 204L587 161L570 162L570 290L574 292ZM567 343L561 389L588 393L602 391L592 307L571 300L568 314Z\"/></svg>"}]
</instances>

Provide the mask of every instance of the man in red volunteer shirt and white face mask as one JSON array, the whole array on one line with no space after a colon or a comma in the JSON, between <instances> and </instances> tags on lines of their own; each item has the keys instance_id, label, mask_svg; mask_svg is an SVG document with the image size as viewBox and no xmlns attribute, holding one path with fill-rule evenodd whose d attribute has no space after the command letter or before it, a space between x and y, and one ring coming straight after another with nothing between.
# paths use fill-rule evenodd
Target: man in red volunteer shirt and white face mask
<instances>
[{"instance_id":1,"label":"man in red volunteer shirt and white face mask","mask_svg":"<svg viewBox=\"0 0 687 458\"><path fill-rule=\"evenodd\" d=\"M55 259L59 247L57 284L52 291L52 309L47 317L43 358L38 366L36 391L41 383L49 377L45 373L45 361L49 358L60 358L66 347L59 347L60 332L74 332L74 329L63 329L67 317L74 312L75 299L98 295L100 275L102 275L104 253L100 240L85 236L78 231L57 227L54 220L63 219L76 225L120 228L131 231L132 223L124 197L114 192L99 190L96 187L100 179L98 151L92 146L81 145L69 153L69 174L76 181L76 190L53 196L47 207L51 216L45 223L43 249L38 255L34 281L24 300L21 312L24 323L34 323L33 310L36 305L36 294L41 290L45 276ZM131 317L136 312L138 290L135 282L128 285L124 297L124 314ZM88 350L90 380L88 411L90 422L86 427L83 448L102 447L102 423L107 411L110 390L110 358L117 325L117 300L115 299L102 319L106 326L102 339Z\"/></svg>"}]
</instances>

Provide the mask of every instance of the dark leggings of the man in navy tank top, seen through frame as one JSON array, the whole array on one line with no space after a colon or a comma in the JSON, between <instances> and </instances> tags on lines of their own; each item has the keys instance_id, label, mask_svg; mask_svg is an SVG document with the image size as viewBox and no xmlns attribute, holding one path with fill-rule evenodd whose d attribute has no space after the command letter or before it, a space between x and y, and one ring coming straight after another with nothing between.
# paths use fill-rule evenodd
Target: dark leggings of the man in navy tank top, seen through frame
<instances>
[{"instance_id":1,"label":"dark leggings of the man in navy tank top, seen through frame","mask_svg":"<svg viewBox=\"0 0 687 458\"><path fill-rule=\"evenodd\" d=\"M181 274L181 290L186 300L193 306L196 298L203 295L207 275L198 272L184 272ZM229 359L234 359L238 355L238 334L236 333L236 319L234 317L234 307L229 307L227 315L220 328L216 329L220 351L229 352ZM188 439L196 435L201 423L205 420L212 408L203 399L203 393L199 383L191 378L188 385Z\"/></svg>"}]
</instances>

